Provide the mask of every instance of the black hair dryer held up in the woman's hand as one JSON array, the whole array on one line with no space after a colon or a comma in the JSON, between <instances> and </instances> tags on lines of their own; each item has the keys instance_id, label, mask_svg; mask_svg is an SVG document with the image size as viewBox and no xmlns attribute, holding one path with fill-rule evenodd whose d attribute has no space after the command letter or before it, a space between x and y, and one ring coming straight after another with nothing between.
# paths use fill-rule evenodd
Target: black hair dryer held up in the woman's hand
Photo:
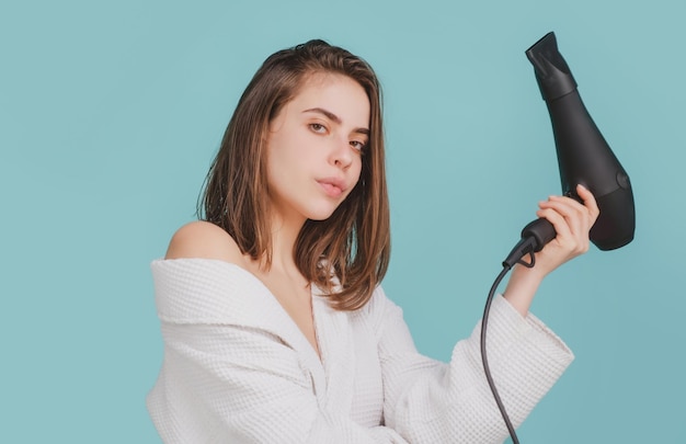
<instances>
[{"instance_id":1,"label":"black hair dryer held up in the woman's hand","mask_svg":"<svg viewBox=\"0 0 686 444\"><path fill-rule=\"evenodd\" d=\"M534 65L538 87L548 105L562 193L579 200L576 184L588 189L601 209L591 229L591 241L601 250L626 246L633 239L636 226L629 175L586 111L569 66L558 52L554 33L536 42L526 50L526 56ZM540 251L554 237L554 229L546 219L534 220L522 231L523 239L533 239L534 251ZM519 252L525 255L531 251ZM508 261L512 266L513 258Z\"/></svg>"}]
</instances>

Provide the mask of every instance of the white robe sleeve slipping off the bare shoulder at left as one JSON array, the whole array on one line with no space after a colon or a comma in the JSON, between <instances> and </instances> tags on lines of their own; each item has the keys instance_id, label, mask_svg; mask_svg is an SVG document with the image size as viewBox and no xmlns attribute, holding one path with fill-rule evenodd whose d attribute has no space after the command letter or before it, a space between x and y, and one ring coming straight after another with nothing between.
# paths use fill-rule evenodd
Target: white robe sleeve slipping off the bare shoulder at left
<instances>
[{"instance_id":1,"label":"white robe sleeve slipping off the bare shoulder at left","mask_svg":"<svg viewBox=\"0 0 686 444\"><path fill-rule=\"evenodd\" d=\"M301 353L251 321L267 322L268 306L231 300L243 296L237 287L260 286L237 286L224 265L195 265L153 267L164 360L147 405L165 443L405 443L322 410Z\"/></svg>"}]
</instances>

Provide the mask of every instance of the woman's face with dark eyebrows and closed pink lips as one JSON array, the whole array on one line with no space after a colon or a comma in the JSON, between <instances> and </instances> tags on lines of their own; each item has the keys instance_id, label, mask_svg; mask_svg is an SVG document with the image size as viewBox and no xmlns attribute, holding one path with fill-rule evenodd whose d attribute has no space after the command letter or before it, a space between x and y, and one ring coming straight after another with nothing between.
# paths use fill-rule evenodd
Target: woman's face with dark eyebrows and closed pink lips
<instances>
[{"instance_id":1,"label":"woman's face with dark eyebrows and closed pink lips","mask_svg":"<svg viewBox=\"0 0 686 444\"><path fill-rule=\"evenodd\" d=\"M284 219L323 220L347 197L369 138L369 99L353 79L315 73L267 135L267 186Z\"/></svg>"}]
</instances>

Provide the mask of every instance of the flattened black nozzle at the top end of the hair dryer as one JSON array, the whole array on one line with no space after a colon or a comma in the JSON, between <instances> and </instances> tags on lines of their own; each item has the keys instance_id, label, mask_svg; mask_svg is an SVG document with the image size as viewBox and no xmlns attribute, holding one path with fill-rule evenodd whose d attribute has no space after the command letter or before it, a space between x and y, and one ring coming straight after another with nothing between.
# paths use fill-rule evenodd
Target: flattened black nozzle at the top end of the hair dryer
<instances>
[{"instance_id":1,"label":"flattened black nozzle at the top end of the hair dryer","mask_svg":"<svg viewBox=\"0 0 686 444\"><path fill-rule=\"evenodd\" d=\"M558 52L558 41L550 32L526 50L534 65L538 88L544 100L554 100L576 89L576 81Z\"/></svg>"}]
</instances>

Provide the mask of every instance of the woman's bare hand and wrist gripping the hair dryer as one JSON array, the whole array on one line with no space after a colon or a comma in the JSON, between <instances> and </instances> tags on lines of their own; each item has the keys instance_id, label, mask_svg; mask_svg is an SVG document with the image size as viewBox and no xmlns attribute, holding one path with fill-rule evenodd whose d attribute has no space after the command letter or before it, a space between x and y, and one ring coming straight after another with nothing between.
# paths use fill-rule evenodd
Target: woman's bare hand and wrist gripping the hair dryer
<instances>
[{"instance_id":1,"label":"woman's bare hand and wrist gripping the hair dryer","mask_svg":"<svg viewBox=\"0 0 686 444\"><path fill-rule=\"evenodd\" d=\"M601 210L588 190L578 185L576 194L583 204L564 196L551 196L538 204L538 217L548 219L557 236L536 253L533 269L515 265L505 288L504 297L512 306L526 316L540 282L564 262L588 251L588 231L598 218ZM526 258L524 258L526 260Z\"/></svg>"}]
</instances>

